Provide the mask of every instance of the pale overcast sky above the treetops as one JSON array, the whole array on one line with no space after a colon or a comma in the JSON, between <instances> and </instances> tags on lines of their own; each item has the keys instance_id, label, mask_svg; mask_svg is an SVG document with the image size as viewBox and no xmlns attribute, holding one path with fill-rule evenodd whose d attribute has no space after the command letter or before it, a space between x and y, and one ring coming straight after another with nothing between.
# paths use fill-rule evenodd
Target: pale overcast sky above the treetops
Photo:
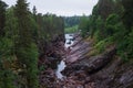
<instances>
[{"instance_id":1,"label":"pale overcast sky above the treetops","mask_svg":"<svg viewBox=\"0 0 133 88\"><path fill-rule=\"evenodd\" d=\"M17 0L3 0L7 4L16 4ZM98 0L28 0L30 9L37 7L38 13L54 13L58 15L89 15Z\"/></svg>"}]
</instances>

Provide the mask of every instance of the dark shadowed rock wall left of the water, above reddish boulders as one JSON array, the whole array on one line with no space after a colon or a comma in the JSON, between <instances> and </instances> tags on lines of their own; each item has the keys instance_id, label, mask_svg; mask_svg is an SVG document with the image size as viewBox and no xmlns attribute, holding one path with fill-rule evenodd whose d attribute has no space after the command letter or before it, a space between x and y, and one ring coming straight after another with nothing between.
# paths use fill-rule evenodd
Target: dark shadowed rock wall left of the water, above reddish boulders
<instances>
[{"instance_id":1,"label":"dark shadowed rock wall left of the water, above reddish boulders","mask_svg":"<svg viewBox=\"0 0 133 88\"><path fill-rule=\"evenodd\" d=\"M57 63L65 55L64 51L64 36L59 35L53 40L45 42L40 46L39 67L44 65L45 68L51 67L55 69Z\"/></svg>"}]
</instances>

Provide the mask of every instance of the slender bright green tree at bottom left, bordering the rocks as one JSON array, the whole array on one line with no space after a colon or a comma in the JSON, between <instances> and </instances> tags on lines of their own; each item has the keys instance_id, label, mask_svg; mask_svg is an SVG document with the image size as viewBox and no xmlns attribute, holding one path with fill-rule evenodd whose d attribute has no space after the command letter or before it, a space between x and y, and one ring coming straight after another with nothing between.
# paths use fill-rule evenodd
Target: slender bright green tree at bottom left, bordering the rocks
<instances>
[{"instance_id":1,"label":"slender bright green tree at bottom left, bordering the rocks","mask_svg":"<svg viewBox=\"0 0 133 88\"><path fill-rule=\"evenodd\" d=\"M38 88L38 48L35 44L31 44L31 46L28 50L28 81L30 88ZM27 55L27 54L25 54Z\"/></svg>"}]
</instances>

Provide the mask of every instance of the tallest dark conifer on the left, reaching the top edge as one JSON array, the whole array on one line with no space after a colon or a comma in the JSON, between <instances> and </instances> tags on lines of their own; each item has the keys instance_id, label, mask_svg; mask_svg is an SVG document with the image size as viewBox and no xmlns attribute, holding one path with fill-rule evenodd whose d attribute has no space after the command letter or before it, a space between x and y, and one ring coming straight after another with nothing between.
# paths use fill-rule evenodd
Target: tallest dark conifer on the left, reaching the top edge
<instances>
[{"instance_id":1,"label":"tallest dark conifer on the left, reaching the top edge","mask_svg":"<svg viewBox=\"0 0 133 88\"><path fill-rule=\"evenodd\" d=\"M20 44L22 46L29 46L29 43L32 42L31 38L31 29L30 29L30 15L27 0L18 0L16 6L16 15L19 23L19 37Z\"/></svg>"}]
</instances>

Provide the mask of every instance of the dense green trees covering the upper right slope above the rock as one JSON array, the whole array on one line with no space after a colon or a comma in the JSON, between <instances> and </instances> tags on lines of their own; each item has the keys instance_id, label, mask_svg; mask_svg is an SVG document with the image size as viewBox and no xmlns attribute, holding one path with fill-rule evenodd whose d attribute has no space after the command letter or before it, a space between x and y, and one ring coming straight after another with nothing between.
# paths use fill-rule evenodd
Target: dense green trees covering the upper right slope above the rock
<instances>
[{"instance_id":1,"label":"dense green trees covering the upper right slope above the rock","mask_svg":"<svg viewBox=\"0 0 133 88\"><path fill-rule=\"evenodd\" d=\"M92 14L81 18L83 37L90 36L99 52L115 45L117 55L133 58L133 0L99 0Z\"/></svg>"}]
</instances>

